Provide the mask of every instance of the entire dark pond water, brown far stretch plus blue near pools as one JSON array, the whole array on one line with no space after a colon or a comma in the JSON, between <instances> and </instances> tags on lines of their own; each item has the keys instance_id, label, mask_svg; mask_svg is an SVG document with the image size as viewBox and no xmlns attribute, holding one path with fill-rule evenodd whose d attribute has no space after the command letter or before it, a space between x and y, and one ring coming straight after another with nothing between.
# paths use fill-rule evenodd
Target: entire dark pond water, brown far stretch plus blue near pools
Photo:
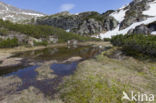
<instances>
[{"instance_id":1,"label":"entire dark pond water, brown far stretch plus blue near pools","mask_svg":"<svg viewBox=\"0 0 156 103\"><path fill-rule=\"evenodd\" d=\"M38 73L35 71L39 65L34 66L26 65L28 61L31 62L45 62L50 60L64 61L68 58L80 56L84 59L94 57L96 54L103 51L97 47L79 46L78 48L47 48L42 50L28 51L16 53L13 57L22 57L25 59L24 64L13 67L0 68L0 76L18 76L22 80L22 84L18 87L17 91L33 86L38 88L45 96L52 96L57 90L55 87L62 81L62 78L71 75L80 61L68 63L54 63L50 68L57 75L53 79L37 80ZM24 65L24 66L23 66Z\"/></svg>"}]
</instances>

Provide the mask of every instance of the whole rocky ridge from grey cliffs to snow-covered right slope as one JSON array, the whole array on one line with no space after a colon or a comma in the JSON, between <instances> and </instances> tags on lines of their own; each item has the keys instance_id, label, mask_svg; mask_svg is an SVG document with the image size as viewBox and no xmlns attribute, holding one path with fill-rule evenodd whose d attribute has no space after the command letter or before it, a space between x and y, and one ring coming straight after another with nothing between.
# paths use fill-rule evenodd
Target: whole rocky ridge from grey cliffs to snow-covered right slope
<instances>
[{"instance_id":1,"label":"whole rocky ridge from grey cliffs to snow-covered right slope","mask_svg":"<svg viewBox=\"0 0 156 103\"><path fill-rule=\"evenodd\" d=\"M110 38L117 34L156 34L156 0L133 0L128 5L103 14L63 12L38 18L36 24L48 24L81 35ZM100 35L99 35L100 34Z\"/></svg>"}]
</instances>

